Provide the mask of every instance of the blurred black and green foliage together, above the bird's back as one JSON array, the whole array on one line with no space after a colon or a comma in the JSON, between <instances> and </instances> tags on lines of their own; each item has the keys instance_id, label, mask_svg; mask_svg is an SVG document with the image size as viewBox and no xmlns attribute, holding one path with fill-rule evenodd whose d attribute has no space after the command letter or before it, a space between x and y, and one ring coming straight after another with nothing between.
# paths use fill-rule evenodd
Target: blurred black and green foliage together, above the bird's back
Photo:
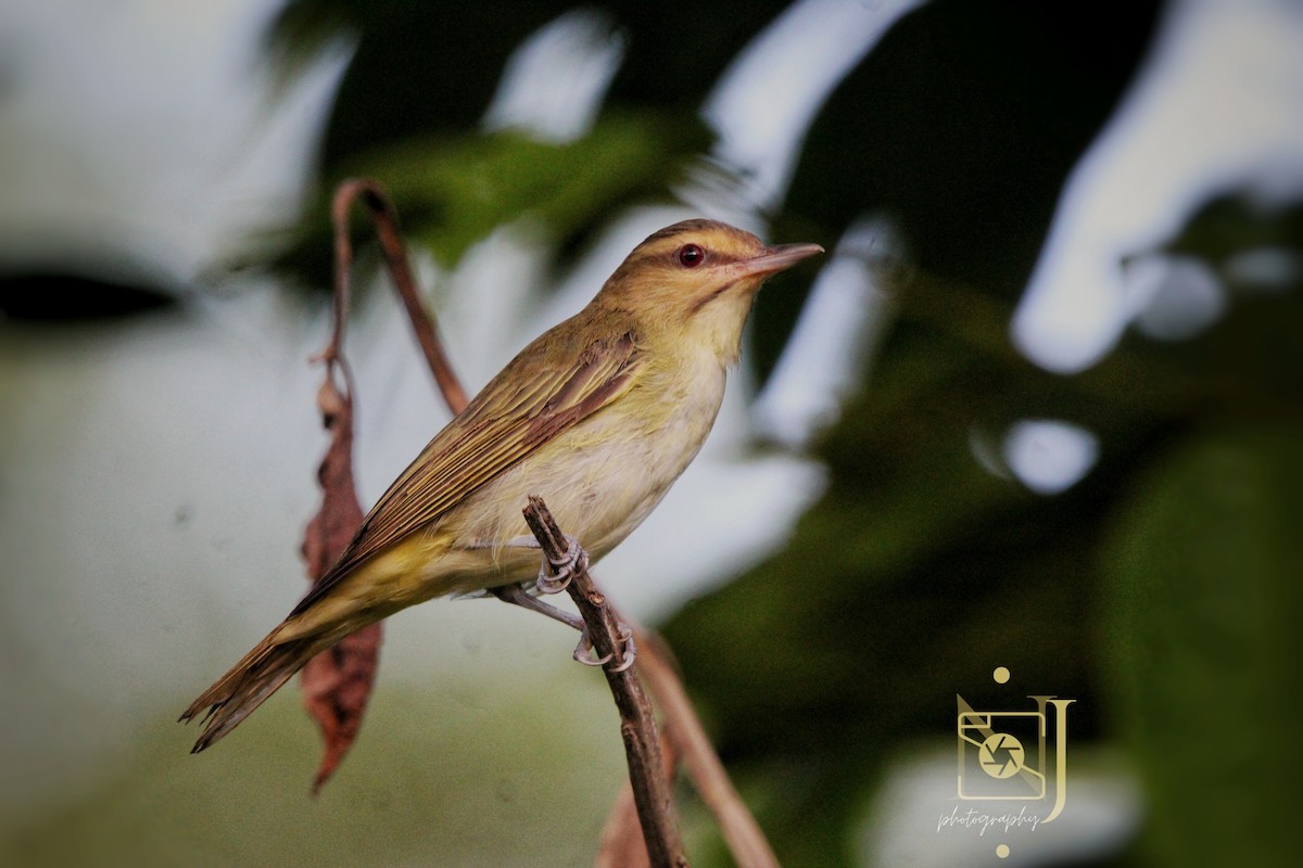
<instances>
[{"instance_id":1,"label":"blurred black and green foliage together, above the bird's back","mask_svg":"<svg viewBox=\"0 0 1303 868\"><path fill-rule=\"evenodd\" d=\"M379 178L410 233L455 262L521 215L542 217L564 252L631 200L670 199L670 183L709 144L704 94L786 5L292 0L268 44L293 69L331 38L356 40L324 133L322 187L360 172ZM575 9L624 44L597 126L571 144L481 130L511 53ZM309 204L306 237L280 262L309 286L330 285L326 213L321 202Z\"/></svg>"}]
</instances>

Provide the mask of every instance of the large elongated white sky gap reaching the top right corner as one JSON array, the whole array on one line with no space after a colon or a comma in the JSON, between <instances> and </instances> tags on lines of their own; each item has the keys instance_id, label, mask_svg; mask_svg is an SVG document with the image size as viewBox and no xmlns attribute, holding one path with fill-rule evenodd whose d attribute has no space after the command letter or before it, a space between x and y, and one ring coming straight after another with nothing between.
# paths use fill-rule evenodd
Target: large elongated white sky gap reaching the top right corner
<instances>
[{"instance_id":1,"label":"large elongated white sky gap reaching the top right corner","mask_svg":"<svg viewBox=\"0 0 1303 868\"><path fill-rule=\"evenodd\" d=\"M1015 315L1018 345L1053 371L1096 363L1136 312L1121 260L1237 187L1269 200L1303 191L1303 8L1174 3L1132 90L1072 172Z\"/></svg>"}]
</instances>

